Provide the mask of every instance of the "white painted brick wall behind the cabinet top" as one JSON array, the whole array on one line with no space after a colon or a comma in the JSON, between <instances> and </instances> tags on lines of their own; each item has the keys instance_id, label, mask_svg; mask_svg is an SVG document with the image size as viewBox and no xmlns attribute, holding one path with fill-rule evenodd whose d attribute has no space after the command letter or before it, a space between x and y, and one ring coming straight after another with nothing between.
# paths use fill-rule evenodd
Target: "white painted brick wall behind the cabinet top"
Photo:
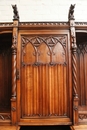
<instances>
[{"instance_id":1,"label":"white painted brick wall behind the cabinet top","mask_svg":"<svg viewBox=\"0 0 87 130\"><path fill-rule=\"evenodd\" d=\"M70 4L76 4L75 21L87 21L87 0L0 0L1 22L12 21L12 4L18 6L20 21L68 21Z\"/></svg>"}]
</instances>

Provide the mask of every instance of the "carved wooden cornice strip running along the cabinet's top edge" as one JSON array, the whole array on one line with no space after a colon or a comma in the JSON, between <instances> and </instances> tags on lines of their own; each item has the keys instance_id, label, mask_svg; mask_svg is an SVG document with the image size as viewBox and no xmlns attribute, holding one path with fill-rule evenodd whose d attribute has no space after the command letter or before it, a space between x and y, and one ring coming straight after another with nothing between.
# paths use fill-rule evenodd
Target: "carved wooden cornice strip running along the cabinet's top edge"
<instances>
[{"instance_id":1,"label":"carved wooden cornice strip running along the cabinet's top edge","mask_svg":"<svg viewBox=\"0 0 87 130\"><path fill-rule=\"evenodd\" d=\"M19 28L31 27L59 27L69 28L69 22L19 22ZM13 22L0 23L0 28L13 28ZM87 22L75 22L76 29L87 27Z\"/></svg>"}]
</instances>

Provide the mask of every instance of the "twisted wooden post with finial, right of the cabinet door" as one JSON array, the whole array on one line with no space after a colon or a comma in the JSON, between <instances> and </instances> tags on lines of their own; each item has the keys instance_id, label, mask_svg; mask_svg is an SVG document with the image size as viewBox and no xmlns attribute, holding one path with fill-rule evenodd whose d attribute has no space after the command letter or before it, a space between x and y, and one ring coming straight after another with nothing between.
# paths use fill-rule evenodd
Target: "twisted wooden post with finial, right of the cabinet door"
<instances>
[{"instance_id":1,"label":"twisted wooden post with finial, right of the cabinet door","mask_svg":"<svg viewBox=\"0 0 87 130\"><path fill-rule=\"evenodd\" d=\"M75 22L74 22L74 7L70 6L69 10L69 23L70 23L70 36L72 48L72 85L73 85L73 124L78 124L78 85L77 85L77 45L75 35Z\"/></svg>"}]
</instances>

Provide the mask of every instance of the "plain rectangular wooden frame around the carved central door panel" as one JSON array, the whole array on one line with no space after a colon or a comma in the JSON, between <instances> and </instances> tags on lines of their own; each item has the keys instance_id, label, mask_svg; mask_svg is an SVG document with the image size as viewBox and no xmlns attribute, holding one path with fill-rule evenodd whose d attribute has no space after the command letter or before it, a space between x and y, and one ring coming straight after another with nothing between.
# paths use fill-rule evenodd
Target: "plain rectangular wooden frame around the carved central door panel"
<instances>
[{"instance_id":1,"label":"plain rectangular wooden frame around the carved central door panel","mask_svg":"<svg viewBox=\"0 0 87 130\"><path fill-rule=\"evenodd\" d=\"M21 118L21 36L22 35L39 35L39 34L43 34L43 35L52 35L52 34L59 34L59 35L67 35L67 45L66 45L66 48L67 48L67 78L68 81L67 81L67 84L68 84L68 94L69 94L69 104L68 104L68 115L69 117L68 118L63 118L63 120L61 120L61 117L59 118L58 117L58 124L65 124L64 122L66 122L67 124L71 125L72 124L72 67L71 67L71 45L70 45L70 35L69 35L69 30L53 30L53 29L32 29L32 30L19 30L19 34L18 34L18 46L17 46L17 69L19 69L20 71L20 79L17 80L17 120L19 122L19 124L21 124L21 122L24 122L26 124L26 122L31 122L31 119L22 119ZM50 122L50 119L47 119L48 121L44 123L44 119L43 119L43 124L44 125L49 125L49 122ZM55 119L53 119L54 122L55 122ZM62 122L60 122L60 120ZM66 121L67 120L67 121ZM37 119L35 120L32 120L34 122L37 122ZM34 125L34 122L32 125ZM27 123L27 125L28 125ZM39 122L38 122L39 123ZM38 124L36 123L36 124ZM51 122L52 123L52 122ZM30 123L29 123L30 124ZM54 123L55 124L55 123Z\"/></svg>"}]
</instances>

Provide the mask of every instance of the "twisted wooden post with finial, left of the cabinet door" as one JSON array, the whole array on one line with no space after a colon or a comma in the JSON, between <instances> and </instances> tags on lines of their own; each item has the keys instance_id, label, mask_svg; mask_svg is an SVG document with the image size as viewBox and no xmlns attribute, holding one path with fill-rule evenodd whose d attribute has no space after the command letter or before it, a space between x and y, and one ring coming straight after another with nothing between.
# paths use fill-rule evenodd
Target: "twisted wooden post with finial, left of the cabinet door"
<instances>
[{"instance_id":1,"label":"twisted wooden post with finial, left of the cabinet door","mask_svg":"<svg viewBox=\"0 0 87 130\"><path fill-rule=\"evenodd\" d=\"M17 87L17 41L18 41L18 23L19 16L17 11L17 6L12 5L14 12L13 19L13 38L12 38L12 96L11 96L11 119L12 125L16 125L17 112L16 112L16 87Z\"/></svg>"}]
</instances>

